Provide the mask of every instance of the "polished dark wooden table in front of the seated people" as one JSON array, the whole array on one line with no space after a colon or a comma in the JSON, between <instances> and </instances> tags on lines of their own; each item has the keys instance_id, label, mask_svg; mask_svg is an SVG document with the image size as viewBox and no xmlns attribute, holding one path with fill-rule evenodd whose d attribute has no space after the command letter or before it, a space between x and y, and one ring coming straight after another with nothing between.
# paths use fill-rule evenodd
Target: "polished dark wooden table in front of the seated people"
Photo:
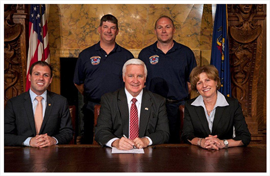
<instances>
[{"instance_id":1,"label":"polished dark wooden table in front of the seated people","mask_svg":"<svg viewBox=\"0 0 270 176\"><path fill-rule=\"evenodd\" d=\"M5 172L266 172L266 145L206 150L188 144L112 154L96 145L5 147Z\"/></svg>"}]
</instances>

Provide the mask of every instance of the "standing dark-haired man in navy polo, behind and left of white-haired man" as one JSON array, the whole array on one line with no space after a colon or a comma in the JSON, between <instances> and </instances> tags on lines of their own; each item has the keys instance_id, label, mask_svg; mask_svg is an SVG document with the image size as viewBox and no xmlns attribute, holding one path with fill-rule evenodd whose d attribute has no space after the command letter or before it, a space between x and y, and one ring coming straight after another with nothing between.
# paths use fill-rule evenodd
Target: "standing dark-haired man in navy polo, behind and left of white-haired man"
<instances>
[{"instance_id":1,"label":"standing dark-haired man in navy polo, behind and left of white-haired man","mask_svg":"<svg viewBox=\"0 0 270 176\"><path fill-rule=\"evenodd\" d=\"M116 42L119 32L118 20L113 15L104 15L98 27L100 41L79 54L74 84L84 95L84 135L81 143L93 142L94 106L100 103L104 93L124 87L122 67L133 55Z\"/></svg>"}]
</instances>

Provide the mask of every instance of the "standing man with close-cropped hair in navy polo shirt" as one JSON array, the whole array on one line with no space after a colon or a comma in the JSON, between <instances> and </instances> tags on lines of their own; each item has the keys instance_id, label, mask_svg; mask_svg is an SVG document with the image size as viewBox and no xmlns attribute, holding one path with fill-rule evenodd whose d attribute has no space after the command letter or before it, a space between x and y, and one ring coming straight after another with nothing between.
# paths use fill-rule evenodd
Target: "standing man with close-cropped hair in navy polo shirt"
<instances>
[{"instance_id":1,"label":"standing man with close-cropped hair in navy polo shirt","mask_svg":"<svg viewBox=\"0 0 270 176\"><path fill-rule=\"evenodd\" d=\"M148 70L146 88L164 96L170 127L170 143L179 143L179 105L190 93L190 72L197 66L193 52L173 40L175 27L172 19L161 16L155 22L157 41L142 49L139 59Z\"/></svg>"}]
</instances>

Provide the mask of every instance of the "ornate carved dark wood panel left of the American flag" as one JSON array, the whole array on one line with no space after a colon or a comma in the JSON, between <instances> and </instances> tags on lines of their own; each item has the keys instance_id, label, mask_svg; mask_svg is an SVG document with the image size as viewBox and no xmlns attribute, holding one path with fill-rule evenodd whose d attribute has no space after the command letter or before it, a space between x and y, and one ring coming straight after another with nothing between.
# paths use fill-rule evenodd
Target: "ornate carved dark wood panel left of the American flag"
<instances>
[{"instance_id":1,"label":"ornate carved dark wood panel left of the American flag","mask_svg":"<svg viewBox=\"0 0 270 176\"><path fill-rule=\"evenodd\" d=\"M4 56L5 74L4 91L5 105L9 98L17 96L24 91L26 80L26 33L25 18L28 10L25 5L5 5L4 7ZM19 12L19 13L18 13ZM22 20L21 20L22 19Z\"/></svg>"}]
</instances>

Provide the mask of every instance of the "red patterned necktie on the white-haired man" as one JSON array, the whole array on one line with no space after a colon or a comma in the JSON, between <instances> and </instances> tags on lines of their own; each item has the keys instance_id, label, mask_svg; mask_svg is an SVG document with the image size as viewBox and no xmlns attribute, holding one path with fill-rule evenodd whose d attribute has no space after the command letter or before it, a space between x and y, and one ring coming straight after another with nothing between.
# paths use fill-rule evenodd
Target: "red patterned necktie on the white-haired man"
<instances>
[{"instance_id":1,"label":"red patterned necktie on the white-haired man","mask_svg":"<svg viewBox=\"0 0 270 176\"><path fill-rule=\"evenodd\" d=\"M132 98L132 104L130 108L130 136L129 139L133 140L139 137L139 118L138 118L138 109L136 106L137 99Z\"/></svg>"}]
</instances>

